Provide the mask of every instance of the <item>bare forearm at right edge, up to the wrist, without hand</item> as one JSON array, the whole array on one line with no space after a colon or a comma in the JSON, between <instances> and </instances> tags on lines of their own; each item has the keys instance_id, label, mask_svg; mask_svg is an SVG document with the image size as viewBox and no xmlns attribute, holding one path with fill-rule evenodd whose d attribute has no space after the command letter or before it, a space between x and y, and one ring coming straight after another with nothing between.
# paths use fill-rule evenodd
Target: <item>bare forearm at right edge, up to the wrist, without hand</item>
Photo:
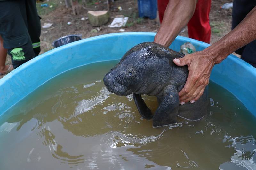
<instances>
[{"instance_id":1,"label":"bare forearm at right edge, up to the wrist, without hand","mask_svg":"<svg viewBox=\"0 0 256 170\"><path fill-rule=\"evenodd\" d=\"M215 64L220 63L229 54L256 39L256 7L226 36L203 52L210 55Z\"/></svg>"}]
</instances>

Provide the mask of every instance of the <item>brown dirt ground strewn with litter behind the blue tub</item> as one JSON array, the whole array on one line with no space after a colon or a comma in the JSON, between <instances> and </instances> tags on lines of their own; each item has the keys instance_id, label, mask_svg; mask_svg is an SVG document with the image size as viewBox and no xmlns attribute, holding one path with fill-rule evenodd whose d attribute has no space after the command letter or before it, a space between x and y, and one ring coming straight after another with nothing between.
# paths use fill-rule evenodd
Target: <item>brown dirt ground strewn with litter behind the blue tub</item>
<instances>
[{"instance_id":1,"label":"brown dirt ground strewn with litter behind the blue tub","mask_svg":"<svg viewBox=\"0 0 256 170\"><path fill-rule=\"evenodd\" d=\"M222 36L231 30L232 8L221 9L220 6L232 0L212 0L210 11L210 25L212 30L211 44L218 41ZM86 3L85 3L86 2ZM47 3L50 7L41 7L41 4ZM70 34L82 34L83 38L92 36L117 33L120 28L109 28L108 25L113 21L113 18L123 15L129 17L124 32L142 31L142 32L157 32L159 29L158 19L150 20L148 18L138 17L137 0L115 0L110 10L110 19L107 24L94 27L87 18L87 12L90 10L107 10L106 0L80 0L79 14L74 15L72 9L67 9L64 0L45 0L42 3L37 3L38 14L42 17L41 25L44 23L53 23L50 28L41 30L41 53L51 50L52 42L59 37ZM118 10L121 6L122 10ZM118 16L119 15L119 16ZM71 22L70 25L67 23ZM98 28L98 29L97 29ZM187 27L185 27L180 35L188 36ZM8 56L6 64L11 64L11 59ZM2 78L3 76L0 76Z\"/></svg>"}]
</instances>

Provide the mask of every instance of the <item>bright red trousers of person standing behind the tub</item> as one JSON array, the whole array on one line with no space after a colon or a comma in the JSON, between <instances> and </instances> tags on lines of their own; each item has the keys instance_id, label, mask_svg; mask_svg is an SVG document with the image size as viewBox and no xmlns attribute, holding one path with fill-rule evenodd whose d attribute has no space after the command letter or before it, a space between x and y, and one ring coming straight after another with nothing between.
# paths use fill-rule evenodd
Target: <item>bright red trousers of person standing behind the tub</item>
<instances>
[{"instance_id":1,"label":"bright red trousers of person standing behind the tub","mask_svg":"<svg viewBox=\"0 0 256 170\"><path fill-rule=\"evenodd\" d=\"M164 11L169 0L157 0L159 20L162 23ZM188 36L199 41L210 43L211 27L209 23L209 13L211 0L198 0L195 13L188 22Z\"/></svg>"}]
</instances>

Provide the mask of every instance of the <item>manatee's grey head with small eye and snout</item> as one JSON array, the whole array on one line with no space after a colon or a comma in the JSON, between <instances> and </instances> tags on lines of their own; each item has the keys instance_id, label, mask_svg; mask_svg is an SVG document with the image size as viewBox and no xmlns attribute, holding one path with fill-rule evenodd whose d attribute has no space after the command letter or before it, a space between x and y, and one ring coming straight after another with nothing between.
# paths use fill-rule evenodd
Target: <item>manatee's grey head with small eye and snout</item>
<instances>
[{"instance_id":1,"label":"manatee's grey head with small eye and snout","mask_svg":"<svg viewBox=\"0 0 256 170\"><path fill-rule=\"evenodd\" d=\"M136 90L138 85L137 69L134 65L120 62L103 78L109 92L127 96Z\"/></svg>"}]
</instances>

